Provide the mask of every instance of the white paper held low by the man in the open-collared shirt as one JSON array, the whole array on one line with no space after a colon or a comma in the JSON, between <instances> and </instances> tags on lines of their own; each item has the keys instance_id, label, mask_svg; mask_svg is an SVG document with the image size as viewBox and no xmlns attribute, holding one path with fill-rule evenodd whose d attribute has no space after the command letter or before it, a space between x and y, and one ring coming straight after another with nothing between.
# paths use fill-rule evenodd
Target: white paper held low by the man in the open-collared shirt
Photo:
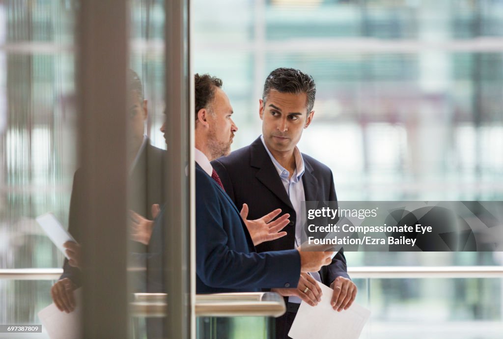
<instances>
[{"instance_id":1,"label":"white paper held low by the man in the open-collared shirt","mask_svg":"<svg viewBox=\"0 0 503 339\"><path fill-rule=\"evenodd\" d=\"M353 303L347 310L334 311L330 306L333 290L318 285L323 293L321 301L316 306L300 304L288 335L293 339L358 339L370 310Z\"/></svg>"}]
</instances>

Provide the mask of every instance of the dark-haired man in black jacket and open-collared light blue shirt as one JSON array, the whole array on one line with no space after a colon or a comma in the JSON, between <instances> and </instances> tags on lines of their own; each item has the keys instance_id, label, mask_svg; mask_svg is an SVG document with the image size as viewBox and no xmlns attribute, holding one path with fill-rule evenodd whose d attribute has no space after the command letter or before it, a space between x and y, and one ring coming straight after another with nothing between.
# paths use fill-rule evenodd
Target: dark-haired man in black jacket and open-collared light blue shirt
<instances>
[{"instance_id":1,"label":"dark-haired man in black jacket and open-collared light blue shirt","mask_svg":"<svg viewBox=\"0 0 503 339\"><path fill-rule=\"evenodd\" d=\"M223 187L244 215L255 218L271 208L281 208L291 216L287 235L257 246L259 251L276 251L300 245L305 219L302 201L336 201L330 169L300 153L297 143L311 123L316 87L308 74L291 68L271 72L264 85L259 114L262 136L251 145L212 162ZM276 321L276 337L287 338L300 300L316 305L321 282L333 288L334 310L347 309L357 289L349 279L341 249L330 265L319 272L303 274L297 288L274 291L288 297L287 313Z\"/></svg>"}]
</instances>

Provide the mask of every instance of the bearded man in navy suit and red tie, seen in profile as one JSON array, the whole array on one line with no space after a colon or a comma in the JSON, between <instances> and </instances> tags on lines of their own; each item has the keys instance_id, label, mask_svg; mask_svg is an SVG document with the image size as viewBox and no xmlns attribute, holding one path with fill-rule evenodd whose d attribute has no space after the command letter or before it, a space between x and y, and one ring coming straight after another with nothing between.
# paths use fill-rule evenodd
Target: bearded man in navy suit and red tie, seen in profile
<instances>
[{"instance_id":1,"label":"bearded man in navy suit and red tie, seen in profile","mask_svg":"<svg viewBox=\"0 0 503 339\"><path fill-rule=\"evenodd\" d=\"M273 211L246 220L225 193L210 160L226 155L237 127L222 81L195 75L196 90L196 291L197 293L257 291L297 286L301 272L330 263L333 252L286 249L257 253L255 246L278 238L285 216ZM270 232L269 230L272 231Z\"/></svg>"}]
</instances>

